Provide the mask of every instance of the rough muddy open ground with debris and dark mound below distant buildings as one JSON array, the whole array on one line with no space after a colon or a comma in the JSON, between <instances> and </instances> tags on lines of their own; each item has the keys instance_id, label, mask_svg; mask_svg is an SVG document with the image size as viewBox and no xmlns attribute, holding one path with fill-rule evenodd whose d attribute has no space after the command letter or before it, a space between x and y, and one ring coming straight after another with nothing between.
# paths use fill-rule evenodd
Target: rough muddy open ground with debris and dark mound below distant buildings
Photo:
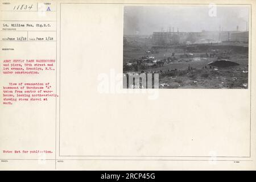
<instances>
[{"instance_id":1,"label":"rough muddy open ground with debris and dark mound below distant buildings","mask_svg":"<svg viewBox=\"0 0 256 182\"><path fill-rule=\"evenodd\" d=\"M218 60L233 64L209 64ZM159 88L246 89L248 70L248 47L241 44L123 47L123 73L159 73Z\"/></svg>"}]
</instances>

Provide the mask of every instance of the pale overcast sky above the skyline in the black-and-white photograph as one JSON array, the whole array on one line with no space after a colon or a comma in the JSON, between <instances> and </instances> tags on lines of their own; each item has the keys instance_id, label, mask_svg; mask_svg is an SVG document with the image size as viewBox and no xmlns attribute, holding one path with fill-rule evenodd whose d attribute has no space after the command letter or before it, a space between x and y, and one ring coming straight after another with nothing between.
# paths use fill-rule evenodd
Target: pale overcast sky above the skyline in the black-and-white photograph
<instances>
[{"instance_id":1,"label":"pale overcast sky above the skyline in the black-and-white photograph","mask_svg":"<svg viewBox=\"0 0 256 182\"><path fill-rule=\"evenodd\" d=\"M245 31L246 22L249 22L249 6L125 6L123 31L125 35L150 35L169 27L175 31L179 27L181 32L201 32L218 31L219 26L231 31L237 25L240 31Z\"/></svg>"}]
</instances>

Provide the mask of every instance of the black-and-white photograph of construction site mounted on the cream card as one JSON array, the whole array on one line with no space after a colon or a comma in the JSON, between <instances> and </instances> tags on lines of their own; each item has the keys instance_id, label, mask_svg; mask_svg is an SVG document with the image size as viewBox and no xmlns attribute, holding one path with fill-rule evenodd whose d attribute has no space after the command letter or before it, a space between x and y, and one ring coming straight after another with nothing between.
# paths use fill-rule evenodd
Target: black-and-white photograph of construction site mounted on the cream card
<instances>
[{"instance_id":1,"label":"black-and-white photograph of construction site mounted on the cream card","mask_svg":"<svg viewBox=\"0 0 256 182\"><path fill-rule=\"evenodd\" d=\"M123 19L127 79L158 74L159 89L248 88L249 6L125 6ZM124 85L144 88L143 80Z\"/></svg>"}]
</instances>

